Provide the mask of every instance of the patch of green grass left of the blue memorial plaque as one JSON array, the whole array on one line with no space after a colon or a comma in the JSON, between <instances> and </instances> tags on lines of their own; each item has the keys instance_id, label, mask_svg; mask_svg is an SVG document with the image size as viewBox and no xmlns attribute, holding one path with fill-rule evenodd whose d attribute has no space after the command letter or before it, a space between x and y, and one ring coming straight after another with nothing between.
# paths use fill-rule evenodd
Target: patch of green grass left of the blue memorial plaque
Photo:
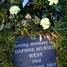
<instances>
[{"instance_id":1,"label":"patch of green grass left of the blue memorial plaque","mask_svg":"<svg viewBox=\"0 0 67 67\"><path fill-rule=\"evenodd\" d=\"M13 33L11 30L0 32L0 67L13 67Z\"/></svg>"}]
</instances>

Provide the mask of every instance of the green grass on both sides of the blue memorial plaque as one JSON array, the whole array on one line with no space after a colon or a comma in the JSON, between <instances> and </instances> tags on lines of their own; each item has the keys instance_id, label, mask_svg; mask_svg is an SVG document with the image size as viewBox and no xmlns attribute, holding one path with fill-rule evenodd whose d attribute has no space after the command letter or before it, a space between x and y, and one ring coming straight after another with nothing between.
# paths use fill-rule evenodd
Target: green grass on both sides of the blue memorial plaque
<instances>
[{"instance_id":1,"label":"green grass on both sides of the blue memorial plaque","mask_svg":"<svg viewBox=\"0 0 67 67\"><path fill-rule=\"evenodd\" d=\"M66 23L61 26L66 28ZM67 67L67 30L56 30L58 38L55 40L58 67ZM13 67L13 34L10 30L0 32L0 67Z\"/></svg>"}]
</instances>

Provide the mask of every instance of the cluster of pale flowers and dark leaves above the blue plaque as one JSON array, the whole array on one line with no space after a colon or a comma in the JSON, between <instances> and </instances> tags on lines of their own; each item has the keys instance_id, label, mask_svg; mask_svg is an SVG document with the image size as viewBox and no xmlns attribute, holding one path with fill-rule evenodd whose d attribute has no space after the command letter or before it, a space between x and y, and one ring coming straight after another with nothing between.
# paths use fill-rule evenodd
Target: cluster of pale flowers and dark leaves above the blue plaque
<instances>
[{"instance_id":1,"label":"cluster of pale flowers and dark leaves above the blue plaque","mask_svg":"<svg viewBox=\"0 0 67 67\"><path fill-rule=\"evenodd\" d=\"M57 21L53 10L57 11L58 0L29 1L25 7L21 5L23 0L4 3L6 8L4 18L1 19L0 31L6 28L12 29L15 35L37 35L51 31L53 22Z\"/></svg>"}]
</instances>

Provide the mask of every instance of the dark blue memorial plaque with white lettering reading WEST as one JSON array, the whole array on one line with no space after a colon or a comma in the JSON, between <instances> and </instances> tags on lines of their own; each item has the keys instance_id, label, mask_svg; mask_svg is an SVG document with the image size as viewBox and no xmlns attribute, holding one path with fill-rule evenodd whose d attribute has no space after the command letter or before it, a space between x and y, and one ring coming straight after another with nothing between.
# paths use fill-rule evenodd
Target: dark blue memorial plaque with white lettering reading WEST
<instances>
[{"instance_id":1,"label":"dark blue memorial plaque with white lettering reading WEST","mask_svg":"<svg viewBox=\"0 0 67 67\"><path fill-rule=\"evenodd\" d=\"M14 44L15 67L57 67L54 46L47 38L16 37Z\"/></svg>"}]
</instances>

